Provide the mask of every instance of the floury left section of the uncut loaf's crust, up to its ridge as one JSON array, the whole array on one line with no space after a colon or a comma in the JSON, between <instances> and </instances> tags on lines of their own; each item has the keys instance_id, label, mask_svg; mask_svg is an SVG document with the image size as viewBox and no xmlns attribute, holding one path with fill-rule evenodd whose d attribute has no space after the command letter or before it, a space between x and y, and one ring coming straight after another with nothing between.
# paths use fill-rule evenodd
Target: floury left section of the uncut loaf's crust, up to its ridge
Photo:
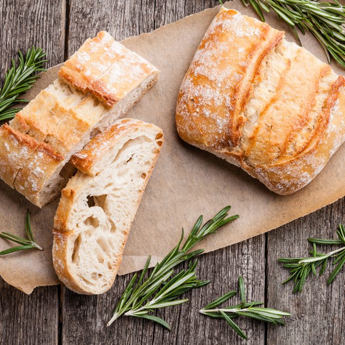
<instances>
[{"instance_id":1,"label":"floury left section of the uncut loaf's crust, up to its ridge","mask_svg":"<svg viewBox=\"0 0 345 345\"><path fill-rule=\"evenodd\" d=\"M248 102L260 62L282 37L265 23L222 8L181 85L176 106L180 137L213 148L236 144L241 106Z\"/></svg>"}]
</instances>

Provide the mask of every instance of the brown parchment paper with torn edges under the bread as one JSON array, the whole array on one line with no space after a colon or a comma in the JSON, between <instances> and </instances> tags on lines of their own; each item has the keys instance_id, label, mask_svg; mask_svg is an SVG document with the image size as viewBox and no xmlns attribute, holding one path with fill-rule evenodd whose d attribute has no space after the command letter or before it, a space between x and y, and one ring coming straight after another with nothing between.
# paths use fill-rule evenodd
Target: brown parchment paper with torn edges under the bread
<instances>
[{"instance_id":1,"label":"brown parchment paper with torn edges under the bread","mask_svg":"<svg viewBox=\"0 0 345 345\"><path fill-rule=\"evenodd\" d=\"M226 6L255 16L239 0ZM201 243L201 247L211 251L275 229L345 195L345 145L306 188L291 196L278 196L241 169L179 139L174 120L179 86L218 10L216 6L123 41L161 70L159 82L127 117L160 126L165 144L139 206L119 274L141 269L149 254L152 264L162 259L178 241L181 227L189 232L201 213L208 219L222 207L232 205L231 213L241 216ZM267 15L267 22L294 40L289 28L274 14ZM326 62L316 40L311 35L301 36L304 46ZM58 69L56 66L43 73L27 98L34 98L53 81ZM339 74L344 72L334 64L333 69ZM25 236L24 219L30 208L34 236L44 247L43 252L29 250L0 257L0 275L25 293L31 293L36 286L59 283L51 258L51 230L58 202L38 209L0 181L0 231ZM8 245L0 239L0 250Z\"/></svg>"}]
</instances>

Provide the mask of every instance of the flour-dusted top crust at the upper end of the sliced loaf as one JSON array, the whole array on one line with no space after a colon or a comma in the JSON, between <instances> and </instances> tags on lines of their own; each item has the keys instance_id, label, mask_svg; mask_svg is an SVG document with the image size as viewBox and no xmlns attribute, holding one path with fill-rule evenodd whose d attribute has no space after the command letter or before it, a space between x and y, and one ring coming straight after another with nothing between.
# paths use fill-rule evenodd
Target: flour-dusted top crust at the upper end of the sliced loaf
<instances>
[{"instance_id":1,"label":"flour-dusted top crust at the upper end of the sliced loaf","mask_svg":"<svg viewBox=\"0 0 345 345\"><path fill-rule=\"evenodd\" d=\"M89 38L59 71L67 83L112 107L158 70L108 33Z\"/></svg>"}]
</instances>

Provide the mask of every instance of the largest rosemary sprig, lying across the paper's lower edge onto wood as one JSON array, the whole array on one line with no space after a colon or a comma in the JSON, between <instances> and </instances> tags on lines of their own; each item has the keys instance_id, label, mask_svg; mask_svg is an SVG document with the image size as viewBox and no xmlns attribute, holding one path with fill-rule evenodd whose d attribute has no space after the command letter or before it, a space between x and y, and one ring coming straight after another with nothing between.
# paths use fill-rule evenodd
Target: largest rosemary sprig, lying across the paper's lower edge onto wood
<instances>
[{"instance_id":1,"label":"largest rosemary sprig, lying across the paper's lower edge onto wood","mask_svg":"<svg viewBox=\"0 0 345 345\"><path fill-rule=\"evenodd\" d=\"M177 245L160 263L156 264L153 271L145 278L151 260L151 256L149 256L140 277L138 278L138 275L135 274L123 292L107 326L110 326L121 315L126 315L155 321L170 330L166 321L149 312L187 302L187 299L179 299L179 297L192 288L209 283L209 280L202 281L196 276L197 260L190 261L188 270L182 270L175 275L174 268L201 254L204 249L190 250L208 235L214 234L218 228L239 217L238 215L227 217L229 209L230 206L224 207L203 226L203 216L201 215L186 242L180 248L183 240L182 228L182 235Z\"/></svg>"}]
</instances>

